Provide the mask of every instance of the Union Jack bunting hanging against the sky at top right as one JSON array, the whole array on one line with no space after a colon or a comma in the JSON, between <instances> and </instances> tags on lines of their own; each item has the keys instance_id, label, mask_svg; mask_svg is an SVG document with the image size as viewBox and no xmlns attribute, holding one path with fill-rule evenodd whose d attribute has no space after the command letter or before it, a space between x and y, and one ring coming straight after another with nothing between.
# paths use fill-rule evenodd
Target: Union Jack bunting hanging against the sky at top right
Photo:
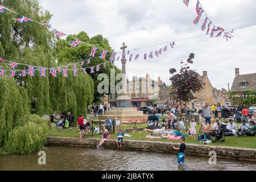
<instances>
[{"instance_id":1,"label":"Union Jack bunting hanging against the sky at top right","mask_svg":"<svg viewBox=\"0 0 256 182\"><path fill-rule=\"evenodd\" d=\"M189 0L183 0L183 3L188 6L189 5ZM199 20L201 19L201 16L204 14L205 15L205 20L204 20L204 23L203 25L201 26L201 30L202 31L205 31L205 28L207 26L207 22L208 23L208 27L207 27L207 32L206 34L209 35L210 33L210 37L213 38L214 37L214 33L217 32L217 35L215 36L216 38L217 37L220 37L222 34L224 34L224 38L226 38L226 41L228 41L229 39L233 38L233 32L234 30L231 30L231 31L225 31L224 28L221 28L219 26L216 26L207 16L207 14L205 13L201 3L199 0L197 0L197 3L196 3L196 13L197 13L197 16L196 18L193 20L193 23L196 25ZM211 28L212 27L212 28Z\"/></svg>"}]
</instances>

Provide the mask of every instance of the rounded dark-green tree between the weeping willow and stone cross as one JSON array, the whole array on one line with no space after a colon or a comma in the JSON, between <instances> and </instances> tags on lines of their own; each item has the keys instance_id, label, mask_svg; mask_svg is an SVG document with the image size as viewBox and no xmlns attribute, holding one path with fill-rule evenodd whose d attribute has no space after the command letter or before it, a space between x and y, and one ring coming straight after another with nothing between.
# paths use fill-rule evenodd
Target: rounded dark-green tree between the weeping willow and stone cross
<instances>
[{"instance_id":1,"label":"rounded dark-green tree between the weeping willow and stone cross","mask_svg":"<svg viewBox=\"0 0 256 182\"><path fill-rule=\"evenodd\" d=\"M93 36L92 38L89 38L86 32L82 31L79 34L72 35L72 36L84 42L88 42L89 44L92 44L94 46L101 47L107 50L112 50L112 48L109 45L109 40L104 38L102 35L96 35L96 36ZM77 61L80 61L80 60L89 59L90 50L92 49L92 46L88 46L86 44L80 44L79 47L72 48L68 46L68 43L70 43L72 40L73 40L72 38L68 37L66 40L60 39L59 42L57 43L55 53L56 53L59 64L76 63ZM87 62L85 61L84 67L88 68L88 67L92 67L92 66L107 62L106 60L108 60L110 55L112 54L112 52L109 52L108 56L106 56L106 60L102 60L99 57L100 53L101 53L101 50L99 49L96 53L96 56L93 57L92 60L90 61L90 64L87 64ZM95 73L93 74L88 72L89 76L92 77L94 81L94 100L93 100L94 103L101 102L101 97L104 96L104 94L100 94L97 92L97 86L101 82L97 79L98 75L101 73L106 73L110 77L110 69L115 69L115 74L121 73L121 71L117 67L115 67L110 63L107 64L106 68L101 66L99 72L95 71Z\"/></svg>"}]
</instances>

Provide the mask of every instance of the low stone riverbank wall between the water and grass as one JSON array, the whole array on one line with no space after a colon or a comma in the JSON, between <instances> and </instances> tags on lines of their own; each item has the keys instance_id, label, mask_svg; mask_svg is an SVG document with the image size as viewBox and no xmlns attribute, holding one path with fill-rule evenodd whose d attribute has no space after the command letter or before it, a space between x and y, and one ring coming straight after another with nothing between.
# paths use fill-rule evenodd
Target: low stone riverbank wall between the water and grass
<instances>
[{"instance_id":1,"label":"low stone riverbank wall between the water and grass","mask_svg":"<svg viewBox=\"0 0 256 182\"><path fill-rule=\"evenodd\" d=\"M65 137L48 137L48 146L73 146L73 147L91 147L96 148L100 139L79 139ZM177 143L165 142L146 142L136 140L125 140L122 150L146 151L146 152L163 152L167 154L177 154L173 147L178 147ZM109 140L104 144L104 148L117 149L115 140ZM217 158L229 158L234 160L246 160L256 162L256 149L207 146L199 144L187 144L187 155L207 156L209 152L215 151Z\"/></svg>"}]
</instances>

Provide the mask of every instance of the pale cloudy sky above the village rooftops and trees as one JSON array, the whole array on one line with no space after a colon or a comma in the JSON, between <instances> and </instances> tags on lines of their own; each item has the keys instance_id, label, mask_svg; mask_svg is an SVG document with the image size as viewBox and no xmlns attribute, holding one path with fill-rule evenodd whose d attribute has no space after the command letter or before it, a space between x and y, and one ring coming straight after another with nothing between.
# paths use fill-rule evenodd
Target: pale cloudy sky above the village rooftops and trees
<instances>
[{"instance_id":1,"label":"pale cloudy sky above the village rooftops and trees","mask_svg":"<svg viewBox=\"0 0 256 182\"><path fill-rule=\"evenodd\" d=\"M195 26L196 0L189 7L182 0L39 0L44 9L53 15L52 26L66 34L85 31L89 36L102 34L109 39L110 46L119 52L125 42L128 49L171 42L191 36L204 35L201 25L205 16ZM253 0L201 0L208 17L217 26L226 30L256 23L256 2ZM162 56L144 61L127 63L128 76L160 76L170 84L170 68L180 68L180 60L187 59L189 53L196 55L193 69L203 74L208 71L212 85L218 89L228 89L232 85L234 69L241 74L256 71L256 26L237 29L234 38L226 42L224 38L201 36L176 42L175 49L168 47ZM137 49L130 53L149 53L163 48L160 46ZM127 49L127 50L128 50ZM128 56L126 57L128 58ZM121 68L121 63L117 63Z\"/></svg>"}]
</instances>

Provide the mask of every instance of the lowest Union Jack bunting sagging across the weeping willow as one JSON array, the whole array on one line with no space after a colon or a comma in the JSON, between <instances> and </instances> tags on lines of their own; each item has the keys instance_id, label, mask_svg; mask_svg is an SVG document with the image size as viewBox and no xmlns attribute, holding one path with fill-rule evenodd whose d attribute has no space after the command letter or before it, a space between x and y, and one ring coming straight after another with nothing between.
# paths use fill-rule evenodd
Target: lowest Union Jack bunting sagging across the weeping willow
<instances>
[{"instance_id":1,"label":"lowest Union Jack bunting sagging across the weeping willow","mask_svg":"<svg viewBox=\"0 0 256 182\"><path fill-rule=\"evenodd\" d=\"M87 75L88 69L90 70L90 73L95 73L95 72L100 72L101 66L106 68L108 63L113 64L113 60L109 60L109 61L106 61L105 63L94 65L92 67L78 68L78 64L81 64L81 66L84 66L85 61L87 61L87 63L90 64L90 59L82 60L79 63L69 64L69 65L73 65L73 68L71 68L71 69L68 68L69 65L55 67L55 68L44 68L44 67L35 67L34 65L27 65L28 68L25 70L15 70L16 68L19 67L19 65L26 65L26 64L16 63L14 61L9 61L9 60L0 58L0 63L8 62L9 64L7 64L7 65L8 65L8 67L11 68L11 69L0 69L0 80L1 80L1 77L5 76L7 72L10 72L9 77L15 77L15 76L33 77L33 76L35 76L36 71L39 72L40 77L46 77L47 70L48 70L49 75L51 75L52 77L57 77L57 73L62 73L62 75L64 77L68 77L68 70L73 71L73 76L77 76L79 70L82 70L82 72L84 72L85 75Z\"/></svg>"}]
</instances>

